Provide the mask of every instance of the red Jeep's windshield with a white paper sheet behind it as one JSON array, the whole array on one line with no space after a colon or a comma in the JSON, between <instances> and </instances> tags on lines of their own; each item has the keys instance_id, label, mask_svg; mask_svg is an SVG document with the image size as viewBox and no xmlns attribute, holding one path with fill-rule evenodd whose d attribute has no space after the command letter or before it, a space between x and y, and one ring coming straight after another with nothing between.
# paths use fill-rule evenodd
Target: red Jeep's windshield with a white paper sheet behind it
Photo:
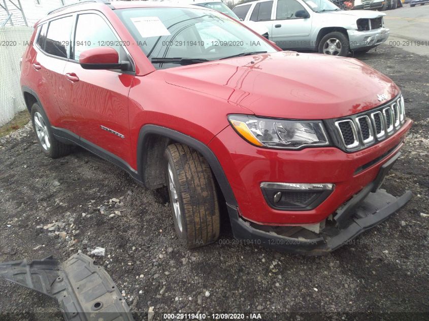
<instances>
[{"instance_id":1,"label":"red Jeep's windshield with a white paper sheet behind it","mask_svg":"<svg viewBox=\"0 0 429 321\"><path fill-rule=\"evenodd\" d=\"M277 51L239 22L210 9L132 8L115 12L157 69Z\"/></svg>"}]
</instances>

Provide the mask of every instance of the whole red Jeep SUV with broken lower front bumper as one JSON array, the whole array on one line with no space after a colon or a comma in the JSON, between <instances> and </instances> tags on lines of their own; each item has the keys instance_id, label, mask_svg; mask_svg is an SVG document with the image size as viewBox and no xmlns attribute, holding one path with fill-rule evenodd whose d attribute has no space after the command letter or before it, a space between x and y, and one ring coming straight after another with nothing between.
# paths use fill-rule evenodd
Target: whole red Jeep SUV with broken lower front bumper
<instances>
[{"instance_id":1,"label":"whole red Jeep SUV with broken lower front bumper","mask_svg":"<svg viewBox=\"0 0 429 321\"><path fill-rule=\"evenodd\" d=\"M411 197L379 189L412 123L389 78L208 8L61 7L35 25L20 84L45 154L79 145L167 186L189 248L216 241L227 208L243 243L323 254Z\"/></svg>"}]
</instances>

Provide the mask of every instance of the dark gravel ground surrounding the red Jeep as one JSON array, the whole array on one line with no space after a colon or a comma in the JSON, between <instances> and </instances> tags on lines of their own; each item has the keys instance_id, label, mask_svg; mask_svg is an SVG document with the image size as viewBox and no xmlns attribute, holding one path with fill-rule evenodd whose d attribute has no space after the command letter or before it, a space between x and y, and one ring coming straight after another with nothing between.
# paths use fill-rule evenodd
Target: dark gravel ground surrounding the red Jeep
<instances>
[{"instance_id":1,"label":"dark gravel ground surrounding the red Jeep","mask_svg":"<svg viewBox=\"0 0 429 321\"><path fill-rule=\"evenodd\" d=\"M179 311L258 312L267 320L429 318L428 58L388 45L358 58L406 97L415 123L384 188L414 196L353 244L323 257L220 243L188 251L176 241L165 191L141 188L79 148L49 159L26 126L0 138L0 262L51 254L64 261L104 247L104 257L92 257L140 312L136 319L150 307L155 319ZM233 240L227 226L220 239ZM53 300L0 280L0 319L62 320L56 311Z\"/></svg>"}]
</instances>

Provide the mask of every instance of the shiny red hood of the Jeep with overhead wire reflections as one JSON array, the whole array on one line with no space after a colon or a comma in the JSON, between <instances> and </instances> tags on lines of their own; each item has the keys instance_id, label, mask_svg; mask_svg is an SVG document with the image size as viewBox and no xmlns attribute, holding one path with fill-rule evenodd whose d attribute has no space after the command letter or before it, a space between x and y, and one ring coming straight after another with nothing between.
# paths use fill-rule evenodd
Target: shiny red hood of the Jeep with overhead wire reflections
<instances>
[{"instance_id":1,"label":"shiny red hood of the Jeep with overhead wire reflections","mask_svg":"<svg viewBox=\"0 0 429 321\"><path fill-rule=\"evenodd\" d=\"M337 118L374 108L399 94L389 78L359 60L290 51L159 71L171 85L266 117ZM387 99L379 101L381 94Z\"/></svg>"}]
</instances>

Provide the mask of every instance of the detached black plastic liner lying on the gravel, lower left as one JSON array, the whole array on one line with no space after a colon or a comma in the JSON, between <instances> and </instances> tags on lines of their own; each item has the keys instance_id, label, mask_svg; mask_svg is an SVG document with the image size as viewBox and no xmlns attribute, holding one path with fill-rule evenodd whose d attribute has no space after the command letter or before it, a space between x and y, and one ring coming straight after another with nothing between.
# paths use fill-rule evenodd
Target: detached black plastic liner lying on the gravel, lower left
<instances>
[{"instance_id":1,"label":"detached black plastic liner lying on the gravel, lower left","mask_svg":"<svg viewBox=\"0 0 429 321\"><path fill-rule=\"evenodd\" d=\"M0 263L0 278L57 299L67 321L133 321L112 278L78 253L64 263L48 257Z\"/></svg>"}]
</instances>

